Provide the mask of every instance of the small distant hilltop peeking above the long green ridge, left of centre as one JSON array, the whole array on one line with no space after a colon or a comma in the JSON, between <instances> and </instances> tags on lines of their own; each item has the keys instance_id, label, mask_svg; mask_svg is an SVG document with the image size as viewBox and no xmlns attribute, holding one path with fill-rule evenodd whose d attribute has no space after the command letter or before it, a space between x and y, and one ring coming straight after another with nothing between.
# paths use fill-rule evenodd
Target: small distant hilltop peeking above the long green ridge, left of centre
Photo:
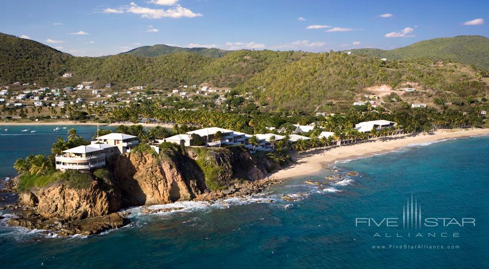
<instances>
[{"instance_id":1,"label":"small distant hilltop peeking above the long green ridge, left of centre","mask_svg":"<svg viewBox=\"0 0 489 269\"><path fill-rule=\"evenodd\" d=\"M210 58L219 58L228 53L227 50L222 50L218 48L182 48L182 47L174 47L163 44L156 44L153 46L142 46L135 49L132 49L127 52L123 52L123 54L133 54L137 56L145 56L145 57L155 57L175 52L193 52L202 56L210 57Z\"/></svg>"}]
</instances>

